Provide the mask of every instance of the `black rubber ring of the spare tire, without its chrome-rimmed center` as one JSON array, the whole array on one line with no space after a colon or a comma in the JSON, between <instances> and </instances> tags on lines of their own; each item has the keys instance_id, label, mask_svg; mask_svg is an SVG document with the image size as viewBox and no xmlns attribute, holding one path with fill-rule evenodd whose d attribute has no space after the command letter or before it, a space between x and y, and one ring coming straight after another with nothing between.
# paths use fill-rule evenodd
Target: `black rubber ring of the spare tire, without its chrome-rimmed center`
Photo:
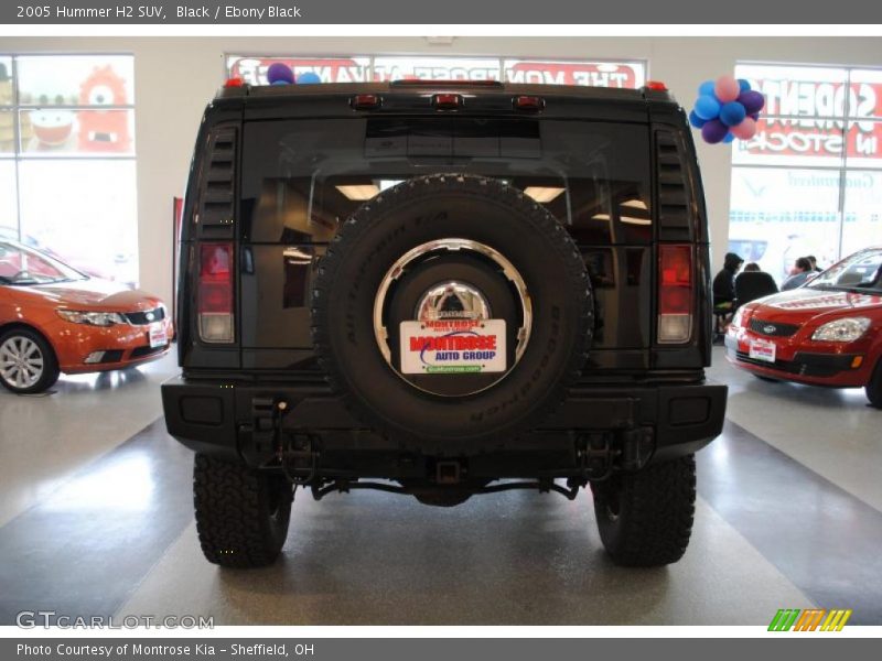
<instances>
[{"instance_id":1,"label":"black rubber ring of the spare tire, without its chrome-rimmed center","mask_svg":"<svg viewBox=\"0 0 882 661\"><path fill-rule=\"evenodd\" d=\"M534 324L504 379L444 398L413 388L386 364L373 306L396 260L449 238L490 246L514 264L529 291ZM344 224L319 264L313 340L332 384L363 420L392 437L461 452L526 431L559 403L584 362L592 307L579 250L545 208L496 180L432 175L384 192Z\"/></svg>"}]
</instances>

